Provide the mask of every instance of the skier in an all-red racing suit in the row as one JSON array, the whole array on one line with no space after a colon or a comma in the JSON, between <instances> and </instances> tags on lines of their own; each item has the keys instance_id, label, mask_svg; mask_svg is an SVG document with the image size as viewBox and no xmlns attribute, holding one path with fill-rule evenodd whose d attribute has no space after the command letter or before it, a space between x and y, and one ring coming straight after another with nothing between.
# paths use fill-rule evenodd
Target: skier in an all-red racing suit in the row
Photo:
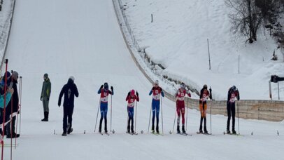
<instances>
[{"instance_id":1,"label":"skier in an all-red racing suit in the row","mask_svg":"<svg viewBox=\"0 0 284 160\"><path fill-rule=\"evenodd\" d=\"M185 95L191 97L190 91L185 89L185 84L181 83L180 88L176 91L176 112L178 114L177 131L180 133L180 113L182 117L182 131L185 133Z\"/></svg>"}]
</instances>

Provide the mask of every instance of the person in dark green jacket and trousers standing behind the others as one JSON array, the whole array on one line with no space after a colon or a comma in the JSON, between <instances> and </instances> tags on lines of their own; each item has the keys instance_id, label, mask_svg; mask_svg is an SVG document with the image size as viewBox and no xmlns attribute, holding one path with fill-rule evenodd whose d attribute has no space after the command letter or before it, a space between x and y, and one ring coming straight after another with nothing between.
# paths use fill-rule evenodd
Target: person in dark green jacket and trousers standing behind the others
<instances>
[{"instance_id":1,"label":"person in dark green jacket and trousers standing behind the others","mask_svg":"<svg viewBox=\"0 0 284 160\"><path fill-rule=\"evenodd\" d=\"M43 75L43 80L43 88L41 89L41 101L43 101L44 118L41 119L41 121L48 121L48 103L51 93L51 83L47 73Z\"/></svg>"}]
</instances>

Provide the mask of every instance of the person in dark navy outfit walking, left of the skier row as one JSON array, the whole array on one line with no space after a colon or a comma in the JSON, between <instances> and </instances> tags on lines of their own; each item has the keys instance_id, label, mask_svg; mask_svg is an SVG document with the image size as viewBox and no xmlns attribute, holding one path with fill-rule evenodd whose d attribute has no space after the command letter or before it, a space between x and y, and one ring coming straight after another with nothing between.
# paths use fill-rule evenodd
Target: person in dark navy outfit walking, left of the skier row
<instances>
[{"instance_id":1,"label":"person in dark navy outfit walking, left of the skier row","mask_svg":"<svg viewBox=\"0 0 284 160\"><path fill-rule=\"evenodd\" d=\"M63 102L63 133L62 136L66 136L73 131L72 127L72 114L74 109L74 96L78 97L78 89L76 84L74 84L75 78L70 76L67 84L65 84L59 94L58 107L61 105L61 99L64 94L64 102ZM67 125L68 119L68 125Z\"/></svg>"}]
</instances>

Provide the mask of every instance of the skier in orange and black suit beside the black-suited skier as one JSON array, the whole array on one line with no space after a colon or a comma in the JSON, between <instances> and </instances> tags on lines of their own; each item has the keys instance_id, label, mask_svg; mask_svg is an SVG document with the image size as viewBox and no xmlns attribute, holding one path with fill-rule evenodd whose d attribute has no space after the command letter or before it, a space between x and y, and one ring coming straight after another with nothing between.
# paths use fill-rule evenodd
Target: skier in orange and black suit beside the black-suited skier
<instances>
[{"instance_id":1,"label":"skier in orange and black suit beside the black-suited skier","mask_svg":"<svg viewBox=\"0 0 284 160\"><path fill-rule=\"evenodd\" d=\"M210 91L210 93L209 93ZM207 109L207 99L211 97L211 88L209 89L209 91L207 90L207 85L204 84L203 88L200 91L200 96L199 96L199 109L200 109L200 127L199 127L199 133L203 133L202 132L202 121L204 119L204 133L208 134L207 128L206 128L206 109Z\"/></svg>"}]
</instances>

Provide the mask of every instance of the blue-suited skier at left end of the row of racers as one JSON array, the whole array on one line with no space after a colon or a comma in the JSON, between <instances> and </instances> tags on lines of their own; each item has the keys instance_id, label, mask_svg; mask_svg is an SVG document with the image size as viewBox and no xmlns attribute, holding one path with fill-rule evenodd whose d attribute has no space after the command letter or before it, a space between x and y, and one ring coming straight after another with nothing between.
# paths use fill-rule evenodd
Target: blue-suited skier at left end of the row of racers
<instances>
[{"instance_id":1,"label":"blue-suited skier at left end of the row of racers","mask_svg":"<svg viewBox=\"0 0 284 160\"><path fill-rule=\"evenodd\" d=\"M104 87L104 88L103 88ZM111 91L108 90L108 83L104 83L104 85L101 85L99 88L98 94L101 94L100 98L100 109L101 109L101 119L99 121L99 133L101 133L101 124L103 123L104 119L104 131L105 133L108 133L107 128L107 119L106 114L108 113L108 95L113 95L113 86L111 86Z\"/></svg>"}]
</instances>

